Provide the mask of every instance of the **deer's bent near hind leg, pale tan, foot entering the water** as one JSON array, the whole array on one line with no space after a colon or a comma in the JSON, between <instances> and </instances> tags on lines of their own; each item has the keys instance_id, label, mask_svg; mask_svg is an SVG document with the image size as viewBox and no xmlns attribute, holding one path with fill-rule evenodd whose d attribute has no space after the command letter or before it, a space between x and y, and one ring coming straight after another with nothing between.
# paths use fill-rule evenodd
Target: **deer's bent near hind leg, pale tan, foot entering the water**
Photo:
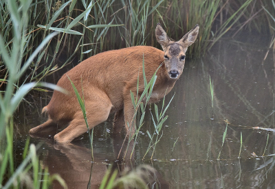
<instances>
[{"instance_id":1,"label":"deer's bent near hind leg, pale tan, foot entering the water","mask_svg":"<svg viewBox=\"0 0 275 189\"><path fill-rule=\"evenodd\" d=\"M94 97L90 96L85 99L85 109L87 113L89 129L102 123L103 121L106 121L112 107L109 97L103 92L97 91L97 95L93 95ZM74 138L84 134L87 132L87 130L88 129L83 117L83 112L79 108L78 112L74 116L74 119L69 123L68 127L56 134L54 136L54 140L60 143L72 142Z\"/></svg>"}]
</instances>

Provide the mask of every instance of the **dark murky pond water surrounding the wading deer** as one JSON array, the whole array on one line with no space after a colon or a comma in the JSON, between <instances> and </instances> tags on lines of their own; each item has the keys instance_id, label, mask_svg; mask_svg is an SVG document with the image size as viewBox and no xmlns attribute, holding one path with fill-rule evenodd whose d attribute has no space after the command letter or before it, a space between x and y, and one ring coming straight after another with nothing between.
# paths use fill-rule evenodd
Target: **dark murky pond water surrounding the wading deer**
<instances>
[{"instance_id":1,"label":"dark murky pond water surrounding the wading deer","mask_svg":"<svg viewBox=\"0 0 275 189\"><path fill-rule=\"evenodd\" d=\"M252 128L274 129L274 55L270 51L263 61L268 45L261 44L261 40L223 40L204 57L187 62L183 75L166 97L168 103L175 94L153 159L149 151L142 160L149 144L146 131L153 131L147 110L134 160L120 164L120 171L125 166L132 169L148 164L162 175L162 188L274 188L275 132ZM40 112L50 96L28 97L31 104L23 103L15 116L18 163L28 130L46 120ZM94 163L88 134L67 146L55 144L52 136L47 136L48 140L32 138L31 142L42 144L41 164L48 166L50 173L59 173L69 188L87 188L90 175L91 188L98 188L121 142L112 130L111 117L95 127Z\"/></svg>"}]
</instances>

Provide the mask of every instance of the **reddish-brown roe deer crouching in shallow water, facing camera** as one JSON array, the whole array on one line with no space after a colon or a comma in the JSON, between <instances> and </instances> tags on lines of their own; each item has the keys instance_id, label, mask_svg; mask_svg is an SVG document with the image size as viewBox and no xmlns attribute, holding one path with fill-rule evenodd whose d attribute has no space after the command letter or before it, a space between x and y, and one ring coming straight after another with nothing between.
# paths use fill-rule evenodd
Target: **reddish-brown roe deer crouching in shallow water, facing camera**
<instances>
[{"instance_id":1,"label":"reddish-brown roe deer crouching in shallow water, facing camera","mask_svg":"<svg viewBox=\"0 0 275 189\"><path fill-rule=\"evenodd\" d=\"M154 103L170 92L175 81L179 79L184 69L186 50L195 42L198 33L199 25L196 25L181 40L174 42L158 23L155 36L164 51L137 46L98 53L84 60L59 79L57 86L67 90L69 95L54 90L50 103L42 111L47 112L49 119L30 129L30 134L40 135L52 131L57 124L69 124L54 136L54 140L71 142L87 131L83 112L68 77L79 92L83 89L83 94L80 95L85 99L89 129L106 121L109 114L115 113L113 132L119 133L125 127L127 136L134 134L135 129L130 129L127 124L130 125L135 112L130 90L133 94L137 93L137 78L140 78L139 95L144 90L143 60L148 81L157 71L157 80L150 99L150 103Z\"/></svg>"}]
</instances>

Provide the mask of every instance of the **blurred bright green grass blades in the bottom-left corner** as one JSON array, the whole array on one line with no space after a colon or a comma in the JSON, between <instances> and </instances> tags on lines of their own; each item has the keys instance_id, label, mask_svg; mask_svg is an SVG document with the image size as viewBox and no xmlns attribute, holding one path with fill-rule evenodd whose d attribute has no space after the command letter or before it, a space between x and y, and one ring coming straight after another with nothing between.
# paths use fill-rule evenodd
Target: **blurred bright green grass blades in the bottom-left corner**
<instances>
[{"instance_id":1,"label":"blurred bright green grass blades in the bottom-left corner","mask_svg":"<svg viewBox=\"0 0 275 189\"><path fill-rule=\"evenodd\" d=\"M47 168L43 170L36 155L34 144L25 143L23 162L14 170L13 157L13 124L5 128L6 146L0 153L0 188L8 189L26 186L26 188L49 188L54 180L58 181L63 188L67 188L65 181L59 175L49 175ZM3 154L3 156L2 156ZM30 170L32 173L30 173ZM5 183L3 181L7 179ZM41 183L42 182L42 183Z\"/></svg>"}]
</instances>

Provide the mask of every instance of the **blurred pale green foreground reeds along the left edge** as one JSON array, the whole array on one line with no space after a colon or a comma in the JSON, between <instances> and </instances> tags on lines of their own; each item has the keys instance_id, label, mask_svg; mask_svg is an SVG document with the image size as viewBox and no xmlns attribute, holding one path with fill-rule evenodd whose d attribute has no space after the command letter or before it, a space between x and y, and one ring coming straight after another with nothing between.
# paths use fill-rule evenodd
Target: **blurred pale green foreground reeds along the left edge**
<instances>
[{"instance_id":1,"label":"blurred pale green foreground reeds along the left edge","mask_svg":"<svg viewBox=\"0 0 275 189\"><path fill-rule=\"evenodd\" d=\"M41 60L41 55L44 55L45 51L50 47L49 44L52 38L60 34L58 34L58 32L53 32L46 35L41 44L38 45L36 49L33 49L34 51L31 51L29 45L31 44L30 39L32 38L32 32L30 31L32 28L30 29L28 27L28 15L30 8L32 8L34 4L32 4L31 0L19 1L19 3L17 1L5 1L4 3L5 5L3 5L1 1L1 8L5 11L5 13L1 15L4 15L5 18L10 16L8 19L9 26L5 25L5 27L7 27L6 29L8 29L8 31L11 31L12 35L0 35L1 64L4 64L6 69L6 79L2 80L2 82L5 82L5 92L0 95L0 138L1 142L3 141L0 149L0 186L1 188L10 188L11 186L17 188L20 185L26 186L27 188L48 188L52 181L56 179L63 187L67 188L61 177L58 175L49 176L47 168L42 169L38 157L36 156L36 148L33 144L30 145L30 151L24 151L23 162L18 167L14 165L13 156L12 114L19 106L23 97L36 86L45 86L65 92L65 90L58 86L45 84L43 82L25 83L26 80L23 80L23 84L19 86L19 80L32 65L36 56L39 56L38 60ZM70 9L73 8L74 4L74 2L71 3ZM66 5L68 4L62 5L58 10L62 11ZM70 29L74 27L90 9L91 8L87 8L87 10L85 10L83 14L77 16L74 21L71 23L68 22L67 27L63 29L63 34L61 35L67 34L67 32L72 33L73 31ZM54 19L58 16L56 14L53 17ZM1 24L3 25L5 21L3 21L3 16L1 18ZM54 23L53 20L51 20L50 23L51 22ZM58 31L58 29L51 29L49 25L48 27L50 30ZM61 36L61 38L63 38L63 36ZM56 52L58 51L60 40L57 44ZM36 67L38 67L38 64L36 64ZM52 69L50 70L50 66L48 66L43 71L47 73L48 71L52 71ZM45 73L43 73L43 76L45 76ZM29 143L27 142L25 149L28 149L28 145ZM32 175L29 174L30 169L32 169ZM41 175L44 176L42 177ZM41 180L43 180L42 184Z\"/></svg>"}]
</instances>

